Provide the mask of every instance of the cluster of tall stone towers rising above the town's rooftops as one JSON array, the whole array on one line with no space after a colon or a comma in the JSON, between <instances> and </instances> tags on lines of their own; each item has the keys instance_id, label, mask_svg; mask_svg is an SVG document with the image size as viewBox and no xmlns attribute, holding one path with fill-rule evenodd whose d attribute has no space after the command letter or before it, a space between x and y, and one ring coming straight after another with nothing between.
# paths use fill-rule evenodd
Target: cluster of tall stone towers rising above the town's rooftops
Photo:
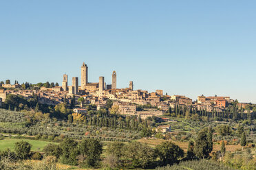
<instances>
[{"instance_id":1,"label":"cluster of tall stone towers rising above the town's rooftops","mask_svg":"<svg viewBox=\"0 0 256 170\"><path fill-rule=\"evenodd\" d=\"M131 86L131 82L130 82ZM133 86L133 85L132 85ZM79 89L81 90L98 90L99 95L105 89L116 89L116 71L112 73L112 84L105 84L104 77L100 76L98 83L88 82L88 66L83 62L81 66L81 86L78 86L78 77L72 77L72 86L67 85L67 74L63 75L62 88L70 94L78 95Z\"/></svg>"}]
</instances>

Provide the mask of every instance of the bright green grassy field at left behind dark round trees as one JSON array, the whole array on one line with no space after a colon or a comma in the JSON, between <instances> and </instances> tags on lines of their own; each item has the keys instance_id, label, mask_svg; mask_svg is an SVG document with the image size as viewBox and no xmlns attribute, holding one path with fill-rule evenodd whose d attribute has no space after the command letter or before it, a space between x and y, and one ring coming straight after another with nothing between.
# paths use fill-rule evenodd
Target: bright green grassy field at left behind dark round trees
<instances>
[{"instance_id":1,"label":"bright green grassy field at left behind dark round trees","mask_svg":"<svg viewBox=\"0 0 256 170\"><path fill-rule=\"evenodd\" d=\"M5 150L5 149L11 149L14 150L14 145L15 143L19 141L27 141L32 145L32 151L42 151L43 147L48 145L50 142L45 142L45 141L36 141L36 140L30 140L30 139L19 139L19 138L5 138L0 140L0 150ZM57 143L54 143L57 144Z\"/></svg>"}]
</instances>

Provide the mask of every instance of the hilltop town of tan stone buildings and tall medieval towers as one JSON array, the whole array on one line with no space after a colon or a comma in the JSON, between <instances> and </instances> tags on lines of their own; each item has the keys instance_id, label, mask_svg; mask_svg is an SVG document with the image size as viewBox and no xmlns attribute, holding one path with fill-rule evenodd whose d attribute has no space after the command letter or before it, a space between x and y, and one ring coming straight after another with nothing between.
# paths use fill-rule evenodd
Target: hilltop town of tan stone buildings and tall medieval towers
<instances>
[{"instance_id":1,"label":"hilltop town of tan stone buildings and tall medieval towers","mask_svg":"<svg viewBox=\"0 0 256 170\"><path fill-rule=\"evenodd\" d=\"M84 62L81 66L81 85L78 85L78 77L72 77L72 85L68 86L67 74L63 75L62 86L58 86L58 83L50 84L47 82L45 84L34 84L33 86L28 84L32 88L26 88L27 85L19 84L17 81L15 81L15 84L10 84L10 80L7 80L6 84L1 82L0 101L4 102L8 94L21 95L27 99L37 95L40 104L56 105L64 101L70 104L72 97L74 97L77 106L74 111L80 113L86 112L84 106L87 104L96 105L97 110L106 108L107 100L111 99L114 101L113 105L118 107L119 114L140 115L142 119L161 116L170 109L177 107L193 108L209 113L223 112L229 104L234 102L231 97L205 97L201 95L198 96L196 101L192 101L192 99L183 95L164 95L163 90L149 93L147 90L135 90L134 82L129 82L128 88L117 88L118 75L116 71L112 73L111 84L106 84L103 76L99 77L98 82L89 82L88 71L88 66ZM81 97L83 97L83 100L79 102L78 99ZM238 108L245 109L248 104L236 101L236 105ZM140 106L148 106L148 109L140 110ZM248 112L253 111L248 110Z\"/></svg>"}]
</instances>

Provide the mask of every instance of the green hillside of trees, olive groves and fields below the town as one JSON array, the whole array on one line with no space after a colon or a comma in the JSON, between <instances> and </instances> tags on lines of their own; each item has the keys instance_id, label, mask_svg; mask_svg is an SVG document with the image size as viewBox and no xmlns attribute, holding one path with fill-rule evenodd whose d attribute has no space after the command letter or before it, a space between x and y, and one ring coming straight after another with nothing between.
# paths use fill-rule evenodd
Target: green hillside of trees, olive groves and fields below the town
<instances>
[{"instance_id":1,"label":"green hillside of trees, olive groves and fields below the town","mask_svg":"<svg viewBox=\"0 0 256 170\"><path fill-rule=\"evenodd\" d=\"M111 169L255 167L255 117L254 114L248 117L235 104L228 106L225 112L213 113L175 106L167 112L167 116L174 119L169 123L159 117L142 120L119 115L111 100L107 101L106 109L96 110L96 106L87 105L84 107L86 114L72 113L74 99L70 104L65 100L56 106L43 106L36 95L31 99L8 95L3 104L8 110L0 109L0 132L3 133L0 134L0 146L3 146L0 165L8 169L8 164L14 163L18 168L25 166L28 160L36 160L45 169L58 169L58 163ZM83 101L79 99L81 106ZM140 110L148 108L153 107L138 107ZM159 132L159 125L171 125L172 132ZM142 143L142 137L148 141L158 138L161 142ZM48 158L53 161L49 162ZM26 163L31 169L37 165Z\"/></svg>"}]
</instances>

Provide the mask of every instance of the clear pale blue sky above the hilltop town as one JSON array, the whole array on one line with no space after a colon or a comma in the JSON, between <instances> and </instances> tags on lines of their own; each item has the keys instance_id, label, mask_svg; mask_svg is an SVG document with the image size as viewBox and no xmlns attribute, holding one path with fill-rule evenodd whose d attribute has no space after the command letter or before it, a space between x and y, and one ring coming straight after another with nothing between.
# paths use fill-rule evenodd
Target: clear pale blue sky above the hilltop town
<instances>
[{"instance_id":1,"label":"clear pale blue sky above the hilltop town","mask_svg":"<svg viewBox=\"0 0 256 170\"><path fill-rule=\"evenodd\" d=\"M256 1L0 0L0 80L89 82L256 103Z\"/></svg>"}]
</instances>

